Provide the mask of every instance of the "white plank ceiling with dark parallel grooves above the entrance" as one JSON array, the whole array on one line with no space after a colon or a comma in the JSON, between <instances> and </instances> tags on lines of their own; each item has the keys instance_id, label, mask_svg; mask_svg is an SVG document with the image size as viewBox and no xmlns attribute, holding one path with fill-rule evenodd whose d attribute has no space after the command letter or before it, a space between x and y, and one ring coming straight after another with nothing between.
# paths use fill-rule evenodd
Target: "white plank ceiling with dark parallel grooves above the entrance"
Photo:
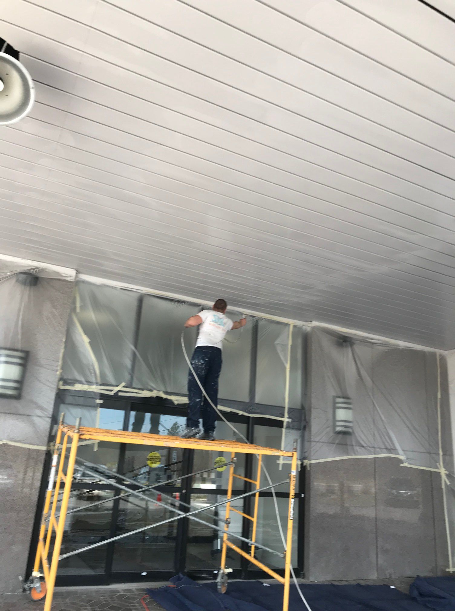
<instances>
[{"instance_id":1,"label":"white plank ceiling with dark parallel grooves above the entrance","mask_svg":"<svg viewBox=\"0 0 455 611\"><path fill-rule=\"evenodd\" d=\"M455 348L433 4L4 0L37 103L0 128L0 252Z\"/></svg>"}]
</instances>

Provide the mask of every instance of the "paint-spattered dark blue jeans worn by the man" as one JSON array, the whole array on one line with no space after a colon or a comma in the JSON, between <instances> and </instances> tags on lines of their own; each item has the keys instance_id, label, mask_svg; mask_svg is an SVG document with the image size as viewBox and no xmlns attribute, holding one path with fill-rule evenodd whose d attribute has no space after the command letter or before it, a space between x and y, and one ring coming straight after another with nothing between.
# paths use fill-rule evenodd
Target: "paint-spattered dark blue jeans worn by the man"
<instances>
[{"instance_id":1,"label":"paint-spattered dark blue jeans worn by the man","mask_svg":"<svg viewBox=\"0 0 455 611\"><path fill-rule=\"evenodd\" d=\"M215 346L197 346L191 357L191 365L195 370L196 376L198 376L199 382L201 382L213 405L218 404L218 378L220 377L222 363L221 348L215 348ZM187 426L199 428L201 408L204 431L206 433L214 431L217 422L217 412L215 412L207 398L202 394L202 390L190 370L188 373Z\"/></svg>"}]
</instances>

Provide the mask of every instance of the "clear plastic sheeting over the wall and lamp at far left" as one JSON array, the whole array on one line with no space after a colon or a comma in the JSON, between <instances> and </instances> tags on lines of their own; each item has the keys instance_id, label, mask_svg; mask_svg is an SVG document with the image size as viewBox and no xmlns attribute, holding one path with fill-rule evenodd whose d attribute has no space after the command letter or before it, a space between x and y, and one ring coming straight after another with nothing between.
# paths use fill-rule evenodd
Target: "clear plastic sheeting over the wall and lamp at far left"
<instances>
[{"instance_id":1,"label":"clear plastic sheeting over the wall and lamp at far left","mask_svg":"<svg viewBox=\"0 0 455 611\"><path fill-rule=\"evenodd\" d=\"M0 257L0 443L46 447L75 274Z\"/></svg>"}]
</instances>

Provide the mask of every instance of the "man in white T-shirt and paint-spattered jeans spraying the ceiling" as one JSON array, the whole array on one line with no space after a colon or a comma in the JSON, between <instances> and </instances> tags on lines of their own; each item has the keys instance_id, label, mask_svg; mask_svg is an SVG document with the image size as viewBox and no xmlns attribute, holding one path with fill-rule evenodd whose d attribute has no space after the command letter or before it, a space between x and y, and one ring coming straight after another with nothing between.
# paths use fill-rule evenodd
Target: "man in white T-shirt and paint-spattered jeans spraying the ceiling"
<instances>
[{"instance_id":1,"label":"man in white T-shirt and paint-spattered jeans spraying the ceiling","mask_svg":"<svg viewBox=\"0 0 455 611\"><path fill-rule=\"evenodd\" d=\"M240 329L246 324L246 318L233 323L225 315L226 308L226 301L217 299L211 310L202 310L195 316L190 316L185 323L185 327L201 325L188 372L188 418L182 433L185 438L197 436L198 439L215 439L217 413L213 406L218 404L218 378L223 362L221 350L224 335L227 331ZM201 415L204 426L202 433L199 429Z\"/></svg>"}]
</instances>

